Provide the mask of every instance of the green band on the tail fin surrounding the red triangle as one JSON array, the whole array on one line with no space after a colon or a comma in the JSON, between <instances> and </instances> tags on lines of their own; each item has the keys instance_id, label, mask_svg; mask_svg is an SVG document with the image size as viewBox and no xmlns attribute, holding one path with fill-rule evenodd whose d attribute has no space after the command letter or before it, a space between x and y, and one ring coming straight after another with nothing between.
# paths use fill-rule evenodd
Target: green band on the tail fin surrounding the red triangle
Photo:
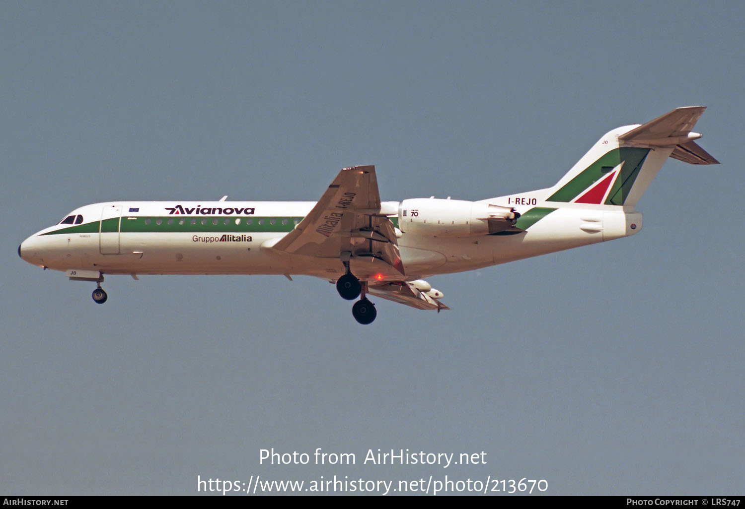
<instances>
[{"instance_id":1,"label":"green band on the tail fin surrounding the red triangle","mask_svg":"<svg viewBox=\"0 0 745 509\"><path fill-rule=\"evenodd\" d=\"M641 168L641 163L644 162L644 158L649 151L647 148L632 147L621 147L610 150L603 154L603 156L600 156L600 159L597 159L597 161L586 167L574 179L567 182L559 191L549 196L546 201L571 202L582 191L585 191L603 176L606 176L610 169L621 164L621 161L626 161L621 170L621 176L615 179L615 184L609 193L612 199L606 200L606 205L623 205L638 175L638 169Z\"/></svg>"}]
</instances>

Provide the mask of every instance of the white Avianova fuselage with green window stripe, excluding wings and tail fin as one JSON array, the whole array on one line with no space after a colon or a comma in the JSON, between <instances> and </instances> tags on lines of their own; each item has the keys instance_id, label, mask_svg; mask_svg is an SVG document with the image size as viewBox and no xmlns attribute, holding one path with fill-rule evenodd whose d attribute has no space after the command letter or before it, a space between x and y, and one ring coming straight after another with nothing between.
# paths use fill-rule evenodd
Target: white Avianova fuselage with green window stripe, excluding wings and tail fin
<instances>
[{"instance_id":1,"label":"white Avianova fuselage with green window stripe, excluding wings and tail fin","mask_svg":"<svg viewBox=\"0 0 745 509\"><path fill-rule=\"evenodd\" d=\"M481 202L388 202L387 205L399 208L398 216L390 219L399 235L406 280L478 269L641 230L638 212L620 206L557 206L555 202L542 202L540 196L545 196L544 190ZM481 221L474 217L475 210L486 204L514 208L524 219L532 217L534 221L519 234L484 234L473 225ZM82 216L80 224L45 228L25 240L19 254L35 265L62 271L312 275L333 281L344 272L338 257L308 257L271 248L314 205L315 202L96 203L71 213ZM416 216L412 215L413 207ZM446 217L443 210L448 211ZM441 217L437 217L438 211ZM363 281L395 277L389 273L381 275L378 263L370 260L352 258L351 262L352 272Z\"/></svg>"}]
</instances>

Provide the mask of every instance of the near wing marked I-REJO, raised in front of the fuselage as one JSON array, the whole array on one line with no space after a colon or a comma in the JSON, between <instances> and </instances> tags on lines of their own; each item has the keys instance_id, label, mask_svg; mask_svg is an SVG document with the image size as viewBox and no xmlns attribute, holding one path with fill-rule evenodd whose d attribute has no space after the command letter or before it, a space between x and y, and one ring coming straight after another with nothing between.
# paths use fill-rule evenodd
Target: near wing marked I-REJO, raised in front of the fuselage
<instances>
[{"instance_id":1,"label":"near wing marked I-REJO, raised in front of the fuselage","mask_svg":"<svg viewBox=\"0 0 745 509\"><path fill-rule=\"evenodd\" d=\"M393 209L381 204L374 166L344 168L310 213L273 249L337 259L349 253L352 263L371 262L358 263L362 267L355 269L358 277L364 277L364 272L400 277L404 266L395 228L387 217L398 214Z\"/></svg>"}]
</instances>

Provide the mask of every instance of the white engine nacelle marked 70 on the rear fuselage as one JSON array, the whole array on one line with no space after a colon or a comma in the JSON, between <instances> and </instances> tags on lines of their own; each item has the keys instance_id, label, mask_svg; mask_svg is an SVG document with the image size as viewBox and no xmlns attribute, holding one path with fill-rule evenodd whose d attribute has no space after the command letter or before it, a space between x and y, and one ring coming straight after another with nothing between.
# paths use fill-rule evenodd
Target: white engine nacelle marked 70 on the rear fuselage
<instances>
[{"instance_id":1,"label":"white engine nacelle marked 70 on the rear fuselage","mask_svg":"<svg viewBox=\"0 0 745 509\"><path fill-rule=\"evenodd\" d=\"M404 233L431 237L472 237L504 231L520 214L514 208L461 199L405 199L399 208Z\"/></svg>"}]
</instances>

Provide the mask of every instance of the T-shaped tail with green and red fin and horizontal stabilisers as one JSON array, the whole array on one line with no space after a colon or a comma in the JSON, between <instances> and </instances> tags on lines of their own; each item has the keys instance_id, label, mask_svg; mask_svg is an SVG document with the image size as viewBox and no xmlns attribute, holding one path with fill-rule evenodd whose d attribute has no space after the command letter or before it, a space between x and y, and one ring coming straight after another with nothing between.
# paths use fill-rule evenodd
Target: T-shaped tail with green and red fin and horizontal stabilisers
<instances>
[{"instance_id":1,"label":"T-shaped tail with green and red fin and horizontal stabilisers","mask_svg":"<svg viewBox=\"0 0 745 509\"><path fill-rule=\"evenodd\" d=\"M685 106L642 125L606 133L546 193L546 202L623 206L633 210L662 164L672 157L690 164L719 164L692 132L706 106Z\"/></svg>"}]
</instances>

